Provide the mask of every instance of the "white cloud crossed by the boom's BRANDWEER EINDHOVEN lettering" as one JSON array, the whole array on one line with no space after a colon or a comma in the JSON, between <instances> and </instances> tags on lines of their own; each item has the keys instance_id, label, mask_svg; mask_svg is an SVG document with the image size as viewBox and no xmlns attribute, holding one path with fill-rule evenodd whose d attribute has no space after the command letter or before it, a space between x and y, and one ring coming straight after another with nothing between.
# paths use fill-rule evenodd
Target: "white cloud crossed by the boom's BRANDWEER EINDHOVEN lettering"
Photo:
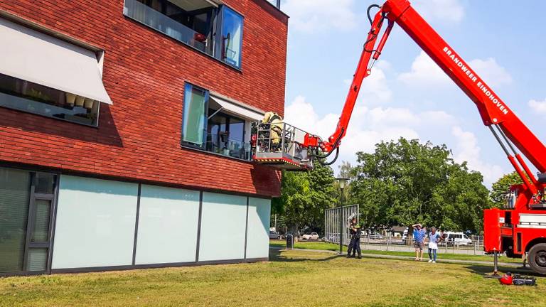
<instances>
[{"instance_id":1,"label":"white cloud crossed by the boom's BRANDWEER EINDHOVEN lettering","mask_svg":"<svg viewBox=\"0 0 546 307\"><path fill-rule=\"evenodd\" d=\"M494 58L471 60L469 66L491 87L509 85L513 81L508 71L498 65ZM398 75L398 80L417 87L454 84L424 51L413 61L411 71Z\"/></svg>"}]
</instances>

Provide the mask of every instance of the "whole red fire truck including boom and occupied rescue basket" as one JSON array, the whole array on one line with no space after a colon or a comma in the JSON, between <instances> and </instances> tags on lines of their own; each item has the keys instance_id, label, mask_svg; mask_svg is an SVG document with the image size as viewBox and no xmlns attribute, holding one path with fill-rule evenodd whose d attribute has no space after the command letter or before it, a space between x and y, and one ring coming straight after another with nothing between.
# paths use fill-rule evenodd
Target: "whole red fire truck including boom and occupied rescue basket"
<instances>
[{"instance_id":1,"label":"whole red fire truck including boom and occupied rescue basket","mask_svg":"<svg viewBox=\"0 0 546 307\"><path fill-rule=\"evenodd\" d=\"M376 11L373 14L373 11ZM444 41L408 0L387 0L368 8L371 24L353 82L350 85L336 131L323 140L319 136L285 124L278 116L255 123L252 134L253 158L287 170L307 170L314 163L336 160L341 140L347 133L358 92L380 58L392 28L397 24L476 104L483 124L488 127L508 157L523 184L510 188L505 208L483 212L484 249L494 254L521 258L527 255L530 267L546 274L546 148L496 92ZM272 120L270 120L272 119ZM326 159L335 154L331 162ZM533 173L523 156L538 173Z\"/></svg>"}]
</instances>

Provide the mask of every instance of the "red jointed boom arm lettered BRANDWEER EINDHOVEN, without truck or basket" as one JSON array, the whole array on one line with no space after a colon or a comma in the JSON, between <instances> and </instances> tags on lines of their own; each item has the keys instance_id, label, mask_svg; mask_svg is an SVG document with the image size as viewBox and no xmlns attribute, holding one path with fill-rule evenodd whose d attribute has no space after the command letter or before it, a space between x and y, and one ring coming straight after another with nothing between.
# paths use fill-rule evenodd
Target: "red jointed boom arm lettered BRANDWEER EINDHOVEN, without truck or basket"
<instances>
[{"instance_id":1,"label":"red jointed boom arm lettered BRANDWEER EINDHOVEN, without truck or basket","mask_svg":"<svg viewBox=\"0 0 546 307\"><path fill-rule=\"evenodd\" d=\"M546 147L544 144L532 134L528 127L525 126L505 102L491 90L491 87L489 87L486 82L470 68L461 56L459 56L459 54L456 53L431 26L429 26L427 21L424 21L424 19L417 14L417 11L410 5L410 1L387 0L383 6L376 7L380 10L375 14L375 18L373 19L372 28L370 33L368 33L368 39L364 45L364 50L360 57L353 83L350 85L350 90L336 132L334 132L327 141L321 141L316 136L308 136L308 143L318 144L322 151L326 153L331 153L331 151L337 149L341 144L341 139L343 139L343 136L346 134L350 116L353 113L353 108L355 107L355 102L362 82L365 77L370 75L373 63L375 60L378 60L393 24L397 23L476 104L483 124L490 127L494 136L496 136L496 139L501 146L503 146L510 163L512 163L515 170L523 179L528 193L531 195L537 194L537 190L540 190L543 186L541 183L537 182L535 176L530 171L530 168L528 168L523 158L515 151L512 144L514 144L541 173L545 173ZM375 48L378 41L378 34L384 21L388 21L388 26L378 43L378 47ZM496 129L493 127L496 127ZM508 144L508 147L513 153L508 151L508 148L504 146L503 140ZM525 174L531 178L531 181L528 181Z\"/></svg>"}]
</instances>

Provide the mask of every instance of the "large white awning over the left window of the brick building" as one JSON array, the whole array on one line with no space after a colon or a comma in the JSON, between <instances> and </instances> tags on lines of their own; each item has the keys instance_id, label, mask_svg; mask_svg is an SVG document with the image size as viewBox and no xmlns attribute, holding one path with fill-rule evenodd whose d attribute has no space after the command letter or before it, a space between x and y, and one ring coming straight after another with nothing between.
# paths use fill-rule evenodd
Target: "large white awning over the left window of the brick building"
<instances>
[{"instance_id":1,"label":"large white awning over the left window of the brick building","mask_svg":"<svg viewBox=\"0 0 546 307\"><path fill-rule=\"evenodd\" d=\"M97 55L0 18L0 73L112 104Z\"/></svg>"}]
</instances>

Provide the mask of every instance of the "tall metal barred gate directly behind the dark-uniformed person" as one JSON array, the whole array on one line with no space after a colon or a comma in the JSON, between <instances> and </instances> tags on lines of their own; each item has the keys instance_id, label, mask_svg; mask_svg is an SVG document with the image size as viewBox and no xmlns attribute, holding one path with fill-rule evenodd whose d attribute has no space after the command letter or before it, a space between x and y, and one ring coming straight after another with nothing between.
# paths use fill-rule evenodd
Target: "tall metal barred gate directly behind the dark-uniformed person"
<instances>
[{"instance_id":1,"label":"tall metal barred gate directly behind the dark-uniformed person","mask_svg":"<svg viewBox=\"0 0 546 307\"><path fill-rule=\"evenodd\" d=\"M358 222L358 205L348 205L341 208L326 209L324 211L324 240L339 244L340 230L343 234L343 245L350 241L350 220L356 217Z\"/></svg>"}]
</instances>

